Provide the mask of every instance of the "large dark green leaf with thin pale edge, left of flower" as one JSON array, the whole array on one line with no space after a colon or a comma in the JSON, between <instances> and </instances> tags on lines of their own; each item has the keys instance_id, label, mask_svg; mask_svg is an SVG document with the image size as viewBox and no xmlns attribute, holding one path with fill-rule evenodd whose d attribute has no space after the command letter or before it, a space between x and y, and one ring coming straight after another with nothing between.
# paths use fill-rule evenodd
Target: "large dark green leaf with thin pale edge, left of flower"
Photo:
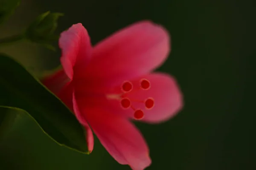
<instances>
[{"instance_id":1,"label":"large dark green leaf with thin pale edge, left of flower","mask_svg":"<svg viewBox=\"0 0 256 170\"><path fill-rule=\"evenodd\" d=\"M26 111L55 142L88 153L73 113L18 62L0 54L0 105Z\"/></svg>"}]
</instances>

